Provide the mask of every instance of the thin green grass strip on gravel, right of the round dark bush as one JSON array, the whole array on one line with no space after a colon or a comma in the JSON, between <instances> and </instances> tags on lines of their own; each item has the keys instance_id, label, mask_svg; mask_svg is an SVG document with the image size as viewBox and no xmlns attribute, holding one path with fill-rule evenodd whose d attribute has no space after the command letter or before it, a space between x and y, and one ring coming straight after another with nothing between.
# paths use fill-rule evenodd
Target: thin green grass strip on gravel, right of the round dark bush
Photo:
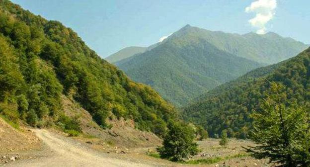
<instances>
[{"instance_id":1,"label":"thin green grass strip on gravel, right of the round dark bush","mask_svg":"<svg viewBox=\"0 0 310 167\"><path fill-rule=\"evenodd\" d=\"M247 157L248 154L236 154L233 156L226 156L226 157L215 157L215 158L207 158L207 159L199 159L199 160L190 160L186 161L185 164L215 164L225 160L231 160L234 158L242 158Z\"/></svg>"}]
</instances>

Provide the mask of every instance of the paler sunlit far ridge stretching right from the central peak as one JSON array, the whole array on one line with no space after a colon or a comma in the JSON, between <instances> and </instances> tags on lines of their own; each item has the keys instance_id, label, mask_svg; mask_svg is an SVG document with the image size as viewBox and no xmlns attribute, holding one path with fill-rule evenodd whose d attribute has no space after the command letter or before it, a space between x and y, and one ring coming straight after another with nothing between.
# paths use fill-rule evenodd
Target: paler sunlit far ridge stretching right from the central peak
<instances>
[{"instance_id":1,"label":"paler sunlit far ridge stretching right from the central peak","mask_svg":"<svg viewBox=\"0 0 310 167\"><path fill-rule=\"evenodd\" d=\"M259 35L253 32L239 35L221 31L209 31L186 25L173 34L172 38L191 34L192 38L208 41L218 49L264 64L274 64L291 58L309 45L284 38L274 32Z\"/></svg>"}]
</instances>

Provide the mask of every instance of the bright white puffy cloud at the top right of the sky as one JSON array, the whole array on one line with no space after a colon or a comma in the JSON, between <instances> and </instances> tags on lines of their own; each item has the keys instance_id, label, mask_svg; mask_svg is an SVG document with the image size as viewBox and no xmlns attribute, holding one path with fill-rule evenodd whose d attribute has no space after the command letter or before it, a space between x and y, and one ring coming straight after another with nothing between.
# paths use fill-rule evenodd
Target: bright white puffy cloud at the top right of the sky
<instances>
[{"instance_id":1,"label":"bright white puffy cloud at the top right of the sky","mask_svg":"<svg viewBox=\"0 0 310 167\"><path fill-rule=\"evenodd\" d=\"M245 8L245 12L255 12L254 18L248 22L258 28L256 33L265 34L266 24L274 17L277 8L277 0L256 0Z\"/></svg>"}]
</instances>

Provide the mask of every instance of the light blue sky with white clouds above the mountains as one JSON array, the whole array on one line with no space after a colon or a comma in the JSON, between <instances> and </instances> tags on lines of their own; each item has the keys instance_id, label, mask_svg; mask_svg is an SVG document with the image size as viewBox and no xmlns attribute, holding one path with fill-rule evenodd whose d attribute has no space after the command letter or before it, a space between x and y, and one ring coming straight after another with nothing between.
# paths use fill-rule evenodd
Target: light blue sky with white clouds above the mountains
<instances>
[{"instance_id":1,"label":"light blue sky with white clouds above the mountains","mask_svg":"<svg viewBox=\"0 0 310 167\"><path fill-rule=\"evenodd\" d=\"M186 24L245 34L268 31L310 44L310 0L12 0L71 27L102 58L150 46Z\"/></svg>"}]
</instances>

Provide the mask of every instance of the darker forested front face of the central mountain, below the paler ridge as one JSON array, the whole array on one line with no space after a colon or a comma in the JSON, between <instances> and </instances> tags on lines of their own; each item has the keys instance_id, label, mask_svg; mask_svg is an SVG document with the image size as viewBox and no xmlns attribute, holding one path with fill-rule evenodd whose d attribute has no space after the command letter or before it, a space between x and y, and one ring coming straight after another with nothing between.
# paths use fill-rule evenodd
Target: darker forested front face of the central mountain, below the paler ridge
<instances>
[{"instance_id":1,"label":"darker forested front face of the central mountain, below the paler ridge","mask_svg":"<svg viewBox=\"0 0 310 167\"><path fill-rule=\"evenodd\" d=\"M191 28L186 26L179 31ZM219 50L208 41L193 37L191 32L172 35L154 49L116 65L131 79L151 85L177 106L262 66Z\"/></svg>"}]
</instances>

